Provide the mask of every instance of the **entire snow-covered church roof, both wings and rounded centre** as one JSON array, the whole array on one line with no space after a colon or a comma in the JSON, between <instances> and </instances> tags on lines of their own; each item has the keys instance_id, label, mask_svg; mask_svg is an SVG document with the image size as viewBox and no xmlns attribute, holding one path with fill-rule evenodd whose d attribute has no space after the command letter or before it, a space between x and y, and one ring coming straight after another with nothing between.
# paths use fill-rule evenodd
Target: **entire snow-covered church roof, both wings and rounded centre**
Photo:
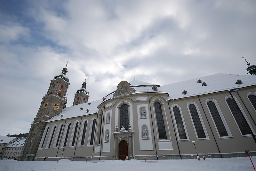
<instances>
[{"instance_id":1,"label":"entire snow-covered church roof, both wings and rounded centre","mask_svg":"<svg viewBox=\"0 0 256 171\"><path fill-rule=\"evenodd\" d=\"M201 82L198 83L198 80L201 80ZM241 80L242 84L236 84L237 80ZM235 75L235 74L215 74L215 75L199 77L199 78L195 78L195 79L191 79L183 82L167 84L161 87L157 84L141 82L138 80L133 80L130 82L130 84L131 84L130 87L136 90L135 93L145 93L145 92L146 93L148 92L168 93L169 94L168 100L171 100L171 99L198 96L198 95L214 93L219 91L226 91L234 88L242 88L242 87L256 85L256 76ZM153 86L157 86L157 91L152 89ZM184 90L186 91L187 94L186 93L183 94ZM115 92L116 91L113 91L112 93L104 97L105 98L104 101L115 98L113 97L113 94ZM132 94L135 94L135 93L132 93ZM82 103L75 106L66 107L62 110L62 113L60 113L55 117L52 117L47 122L98 113L97 106L99 106L100 103L103 103L104 101L102 101L101 99L101 100L92 101L90 103ZM83 108L83 110L80 110L80 108Z\"/></svg>"}]
</instances>

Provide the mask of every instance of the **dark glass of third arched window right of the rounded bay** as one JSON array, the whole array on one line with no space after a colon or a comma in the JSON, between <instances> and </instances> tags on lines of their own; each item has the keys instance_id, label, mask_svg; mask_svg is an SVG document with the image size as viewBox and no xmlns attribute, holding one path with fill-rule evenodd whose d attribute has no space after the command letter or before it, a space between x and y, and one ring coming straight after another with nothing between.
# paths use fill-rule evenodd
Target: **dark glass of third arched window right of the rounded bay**
<instances>
[{"instance_id":1,"label":"dark glass of third arched window right of the rounded bay","mask_svg":"<svg viewBox=\"0 0 256 171\"><path fill-rule=\"evenodd\" d=\"M220 113L215 105L215 103L213 103L212 101L207 102L207 106L210 110L210 113L212 115L212 119L215 123L215 126L219 132L220 137L227 137L228 136L228 132L225 128L225 125L223 124L223 121L220 117Z\"/></svg>"}]
</instances>

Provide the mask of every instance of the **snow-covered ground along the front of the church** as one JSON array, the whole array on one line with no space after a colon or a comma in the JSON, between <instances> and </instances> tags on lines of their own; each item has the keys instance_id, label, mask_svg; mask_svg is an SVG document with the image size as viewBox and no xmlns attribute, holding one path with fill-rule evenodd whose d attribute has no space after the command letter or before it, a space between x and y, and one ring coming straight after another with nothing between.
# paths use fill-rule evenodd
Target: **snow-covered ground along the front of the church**
<instances>
[{"instance_id":1,"label":"snow-covered ground along the front of the church","mask_svg":"<svg viewBox=\"0 0 256 171\"><path fill-rule=\"evenodd\" d=\"M252 157L256 164L256 156ZM0 160L0 171L247 171L249 157L189 160L16 161Z\"/></svg>"}]
</instances>

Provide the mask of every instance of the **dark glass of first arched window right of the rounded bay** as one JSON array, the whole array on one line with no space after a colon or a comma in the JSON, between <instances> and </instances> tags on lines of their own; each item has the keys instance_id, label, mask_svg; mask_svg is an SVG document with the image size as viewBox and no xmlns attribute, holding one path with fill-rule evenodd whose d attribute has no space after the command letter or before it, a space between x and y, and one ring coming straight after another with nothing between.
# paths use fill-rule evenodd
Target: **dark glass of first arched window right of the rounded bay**
<instances>
[{"instance_id":1,"label":"dark glass of first arched window right of the rounded bay","mask_svg":"<svg viewBox=\"0 0 256 171\"><path fill-rule=\"evenodd\" d=\"M175 117L175 121L176 121L176 125L177 125L177 129L179 132L179 136L180 139L187 139L187 135L186 135L186 131L183 125L183 120L180 114L180 108L175 106L172 108L173 113L174 113L174 117Z\"/></svg>"}]
</instances>

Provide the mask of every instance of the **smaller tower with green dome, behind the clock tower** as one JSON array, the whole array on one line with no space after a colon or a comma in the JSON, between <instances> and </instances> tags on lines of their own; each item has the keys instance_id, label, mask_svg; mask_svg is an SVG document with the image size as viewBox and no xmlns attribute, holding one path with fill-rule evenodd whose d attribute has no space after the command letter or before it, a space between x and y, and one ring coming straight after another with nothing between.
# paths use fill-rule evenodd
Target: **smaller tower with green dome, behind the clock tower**
<instances>
[{"instance_id":1,"label":"smaller tower with green dome, behind the clock tower","mask_svg":"<svg viewBox=\"0 0 256 171\"><path fill-rule=\"evenodd\" d=\"M89 99L89 91L86 89L86 78L82 84L82 88L78 89L75 93L73 106L77 104L87 103Z\"/></svg>"}]
</instances>

